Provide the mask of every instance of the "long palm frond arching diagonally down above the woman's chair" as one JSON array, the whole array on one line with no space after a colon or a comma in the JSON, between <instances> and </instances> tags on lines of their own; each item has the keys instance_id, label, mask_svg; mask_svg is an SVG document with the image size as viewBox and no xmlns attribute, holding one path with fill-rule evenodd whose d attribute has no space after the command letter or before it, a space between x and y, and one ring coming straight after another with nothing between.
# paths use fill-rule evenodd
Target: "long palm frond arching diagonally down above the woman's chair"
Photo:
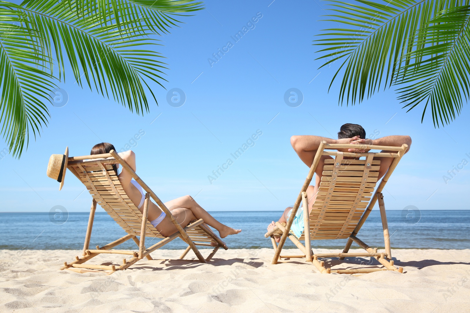
<instances>
[{"instance_id":1,"label":"long palm frond arching diagonally down above the woman's chair","mask_svg":"<svg viewBox=\"0 0 470 313\"><path fill-rule=\"evenodd\" d=\"M123 33L116 24L90 24L60 7L45 12L24 11L28 22L40 32L41 44L56 52L61 68L64 62L71 64L75 82L82 85L85 81L90 89L107 97L111 93L113 99L137 114L148 110L142 75L160 84L163 78L158 73L164 69L164 63L158 61L161 55L151 50L157 40L144 37L150 31Z\"/></svg>"}]
</instances>

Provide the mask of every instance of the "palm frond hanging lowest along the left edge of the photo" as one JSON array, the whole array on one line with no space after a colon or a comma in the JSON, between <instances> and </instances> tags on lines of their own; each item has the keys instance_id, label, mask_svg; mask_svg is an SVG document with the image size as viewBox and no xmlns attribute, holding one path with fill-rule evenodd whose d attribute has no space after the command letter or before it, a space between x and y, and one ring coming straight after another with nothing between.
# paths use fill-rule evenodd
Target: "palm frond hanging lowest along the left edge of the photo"
<instances>
[{"instance_id":1,"label":"palm frond hanging lowest along the left edge of the photo","mask_svg":"<svg viewBox=\"0 0 470 313\"><path fill-rule=\"evenodd\" d=\"M17 9L14 4L0 7L0 133L14 155L22 153L25 141L27 145L28 130L36 137L47 124L49 112L43 100L55 88L47 68L37 66L50 64L38 45L38 34L23 22L25 14L14 13ZM17 26L20 23L24 26Z\"/></svg>"}]
</instances>

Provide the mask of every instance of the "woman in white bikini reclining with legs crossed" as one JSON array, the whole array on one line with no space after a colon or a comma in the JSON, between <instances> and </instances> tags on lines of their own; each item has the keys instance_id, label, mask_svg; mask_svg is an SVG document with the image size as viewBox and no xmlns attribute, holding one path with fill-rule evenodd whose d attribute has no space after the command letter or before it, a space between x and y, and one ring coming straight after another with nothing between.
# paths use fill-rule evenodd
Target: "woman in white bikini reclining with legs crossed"
<instances>
[{"instance_id":1,"label":"woman in white bikini reclining with legs crossed","mask_svg":"<svg viewBox=\"0 0 470 313\"><path fill-rule=\"evenodd\" d=\"M90 154L109 153L111 150L116 151L114 145L103 142L101 144L94 145ZM135 172L135 153L132 151L126 151L118 154ZM114 167L114 170L117 173L119 164L114 165ZM127 196L132 200L134 205L143 212L145 194L142 187L132 179L131 173L129 173L125 168L118 177ZM191 196L183 196L165 202L165 206L170 210L173 217L182 227L186 227L190 221L203 219L206 224L219 231L220 238L238 234L242 231L242 229L233 229L214 219L211 214L207 213L207 211L197 204ZM166 216L166 214L152 201L149 201L148 220L165 237L178 231L168 216Z\"/></svg>"}]
</instances>

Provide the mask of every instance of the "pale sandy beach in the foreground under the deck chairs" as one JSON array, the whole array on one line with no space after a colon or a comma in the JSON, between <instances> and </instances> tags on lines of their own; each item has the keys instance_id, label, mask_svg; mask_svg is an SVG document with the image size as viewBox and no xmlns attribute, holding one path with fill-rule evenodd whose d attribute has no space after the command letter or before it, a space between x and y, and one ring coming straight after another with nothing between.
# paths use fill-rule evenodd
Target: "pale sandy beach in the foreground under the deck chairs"
<instances>
[{"instance_id":1,"label":"pale sandy beach in the foreground under the deck chairs","mask_svg":"<svg viewBox=\"0 0 470 313\"><path fill-rule=\"evenodd\" d=\"M470 249L392 250L403 274L318 274L300 259L271 265L272 249L219 250L209 264L141 260L109 276L59 270L78 253L0 250L0 312L470 312ZM94 264L111 260L119 256ZM347 266L341 262L333 268Z\"/></svg>"}]
</instances>

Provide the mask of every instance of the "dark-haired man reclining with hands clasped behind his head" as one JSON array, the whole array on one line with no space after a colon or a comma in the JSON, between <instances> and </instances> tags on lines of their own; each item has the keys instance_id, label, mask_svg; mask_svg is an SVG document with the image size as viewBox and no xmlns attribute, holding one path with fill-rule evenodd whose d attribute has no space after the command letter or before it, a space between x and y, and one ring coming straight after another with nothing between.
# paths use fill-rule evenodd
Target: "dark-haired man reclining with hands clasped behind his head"
<instances>
[{"instance_id":1,"label":"dark-haired man reclining with hands clasped behind his head","mask_svg":"<svg viewBox=\"0 0 470 313\"><path fill-rule=\"evenodd\" d=\"M315 157L315 154L318 150L318 147L320 146L320 143L322 140L325 140L327 144L351 144L351 145L388 145L388 146L394 146L394 147L399 147L403 144L408 145L408 149L405 153L407 153L410 149L411 146L411 137L409 136L387 136L387 137L382 137L382 138L377 138L377 139L366 139L366 131L362 128L362 126L358 124L344 124L341 126L340 131L338 132L338 139L331 139L331 138L326 138L326 137L320 137L320 136L292 136L290 137L290 144L292 145L292 148L294 148L295 152L297 153L298 157L300 160L302 160L306 166L309 168L312 166L313 159ZM361 150L361 149L356 149L353 146L351 148L347 149L338 149L338 151L342 152L368 152L368 150ZM395 151L382 151L382 152L395 152ZM318 186L320 185L321 181L321 176L323 172L323 166L325 164L325 159L332 159L331 156L329 155L322 155L320 162L318 163L318 166L315 170L315 185L308 186L307 188L307 199L308 199L308 209L309 212L312 210L313 202L314 201L314 196L317 194L318 191ZM344 159L352 159L352 157L344 157ZM377 179L382 178L382 176L385 175L387 172L388 168L392 164L392 158L382 158L382 157L377 157L374 160L380 160L380 169L379 169L379 176ZM287 207L284 210L284 213L282 214L281 218L279 219L279 222L282 223L287 223L287 220L289 219L290 212L292 210L292 206ZM297 211L297 217L300 217L300 214L302 214L302 210ZM269 224L267 229L273 228L275 225L274 221ZM293 229L293 231L298 234L302 233L304 230L304 223L299 222L293 224L293 227L296 229ZM276 241L279 242L280 237L275 237Z\"/></svg>"}]
</instances>

